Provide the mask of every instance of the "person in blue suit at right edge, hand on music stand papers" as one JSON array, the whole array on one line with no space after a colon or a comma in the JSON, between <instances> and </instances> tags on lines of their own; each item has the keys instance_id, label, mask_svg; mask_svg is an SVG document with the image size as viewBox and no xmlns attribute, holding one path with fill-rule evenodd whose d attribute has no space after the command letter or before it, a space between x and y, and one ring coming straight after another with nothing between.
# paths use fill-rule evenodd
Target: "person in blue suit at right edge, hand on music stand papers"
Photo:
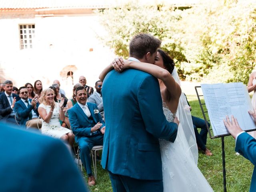
<instances>
[{"instance_id":1,"label":"person in blue suit at right edge, hand on music stand papers","mask_svg":"<svg viewBox=\"0 0 256 192\"><path fill-rule=\"evenodd\" d=\"M254 118L256 122L256 109L254 112L249 111L249 114ZM236 148L235 151L240 153L246 159L250 160L254 166L256 165L256 139L250 136L248 133L244 132L234 116L231 116L231 122L226 116L224 124L230 134L236 139ZM256 191L256 169L254 167L252 174L252 181L250 186L250 192Z\"/></svg>"}]
</instances>

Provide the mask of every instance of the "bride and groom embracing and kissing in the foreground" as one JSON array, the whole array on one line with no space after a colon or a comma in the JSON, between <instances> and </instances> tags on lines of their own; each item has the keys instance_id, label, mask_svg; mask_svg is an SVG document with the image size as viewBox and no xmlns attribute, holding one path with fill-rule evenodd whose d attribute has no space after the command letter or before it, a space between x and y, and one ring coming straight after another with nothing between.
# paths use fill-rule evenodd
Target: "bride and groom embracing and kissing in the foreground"
<instances>
[{"instance_id":1,"label":"bride and groom embracing and kissing in the foreground","mask_svg":"<svg viewBox=\"0 0 256 192\"><path fill-rule=\"evenodd\" d=\"M114 192L212 191L197 168L192 119L174 62L160 44L138 34L130 42L130 58L115 59L100 74L102 167Z\"/></svg>"}]
</instances>

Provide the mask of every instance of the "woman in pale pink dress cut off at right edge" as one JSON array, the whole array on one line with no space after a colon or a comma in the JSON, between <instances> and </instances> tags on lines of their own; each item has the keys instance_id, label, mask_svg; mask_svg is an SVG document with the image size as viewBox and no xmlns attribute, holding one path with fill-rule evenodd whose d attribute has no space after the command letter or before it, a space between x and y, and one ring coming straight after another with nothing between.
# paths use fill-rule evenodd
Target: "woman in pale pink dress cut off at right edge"
<instances>
[{"instance_id":1,"label":"woman in pale pink dress cut off at right edge","mask_svg":"<svg viewBox=\"0 0 256 192\"><path fill-rule=\"evenodd\" d=\"M249 77L248 85L247 85L248 92L254 91L252 95L252 107L256 109L256 71L252 71ZM256 138L256 131L248 132L251 136Z\"/></svg>"}]
</instances>

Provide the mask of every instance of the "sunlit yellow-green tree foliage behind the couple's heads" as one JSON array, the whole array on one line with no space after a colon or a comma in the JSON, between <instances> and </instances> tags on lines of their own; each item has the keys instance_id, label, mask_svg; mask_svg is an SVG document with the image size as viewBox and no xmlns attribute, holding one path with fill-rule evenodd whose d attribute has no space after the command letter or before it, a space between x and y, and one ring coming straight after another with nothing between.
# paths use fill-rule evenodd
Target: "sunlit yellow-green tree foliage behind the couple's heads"
<instances>
[{"instance_id":1,"label":"sunlit yellow-green tree foliage behind the couple's heads","mask_svg":"<svg viewBox=\"0 0 256 192\"><path fill-rule=\"evenodd\" d=\"M141 32L162 40L181 78L204 82L248 82L256 65L256 3L218 0L178 9L129 2L98 12L114 52L128 57L130 39Z\"/></svg>"}]
</instances>

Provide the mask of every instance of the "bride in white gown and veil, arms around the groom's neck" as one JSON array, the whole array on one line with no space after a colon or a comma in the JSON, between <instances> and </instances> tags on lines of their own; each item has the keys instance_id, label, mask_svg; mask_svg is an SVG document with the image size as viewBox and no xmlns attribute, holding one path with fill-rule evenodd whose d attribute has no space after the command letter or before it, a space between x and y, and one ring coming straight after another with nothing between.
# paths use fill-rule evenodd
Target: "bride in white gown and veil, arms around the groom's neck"
<instances>
[{"instance_id":1,"label":"bride in white gown and veil, arms around the groom's neck","mask_svg":"<svg viewBox=\"0 0 256 192\"><path fill-rule=\"evenodd\" d=\"M213 191L197 167L198 149L192 118L186 98L180 94L176 70L175 78L171 76L174 69L172 58L162 50L157 52L155 65L117 58L102 72L100 79L103 80L113 68L117 71L135 68L158 78L166 119L172 122L177 115L180 120L175 142L160 140L164 192Z\"/></svg>"}]
</instances>

